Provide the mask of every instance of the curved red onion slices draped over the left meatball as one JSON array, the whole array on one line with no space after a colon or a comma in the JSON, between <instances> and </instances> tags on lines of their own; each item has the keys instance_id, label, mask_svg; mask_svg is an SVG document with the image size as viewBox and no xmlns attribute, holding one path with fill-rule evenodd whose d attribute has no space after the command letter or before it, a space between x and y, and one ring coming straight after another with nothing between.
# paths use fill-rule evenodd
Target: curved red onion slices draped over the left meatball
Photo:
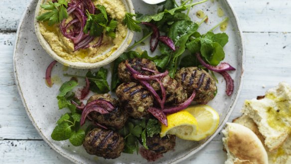
<instances>
[{"instance_id":1,"label":"curved red onion slices draped over the left meatball","mask_svg":"<svg viewBox=\"0 0 291 164\"><path fill-rule=\"evenodd\" d=\"M100 114L108 114L114 109L116 109L116 107L114 107L110 102L106 100L94 100L85 106L82 112L80 125L82 126L85 124L85 120L88 117L89 113L93 111L98 112Z\"/></svg>"}]
</instances>

